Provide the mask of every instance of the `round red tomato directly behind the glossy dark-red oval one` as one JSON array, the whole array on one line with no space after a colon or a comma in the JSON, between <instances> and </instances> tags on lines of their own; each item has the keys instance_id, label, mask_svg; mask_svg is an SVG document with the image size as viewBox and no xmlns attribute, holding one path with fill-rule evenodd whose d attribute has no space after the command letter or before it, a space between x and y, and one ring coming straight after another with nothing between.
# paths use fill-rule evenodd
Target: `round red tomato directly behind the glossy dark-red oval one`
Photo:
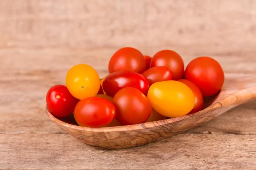
<instances>
[{"instance_id":1,"label":"round red tomato directly behind the glossy dark-red oval one","mask_svg":"<svg viewBox=\"0 0 256 170\"><path fill-rule=\"evenodd\" d=\"M134 71L143 73L146 69L146 60L143 54L131 47L121 48L113 54L109 63L108 71L113 73L116 71Z\"/></svg>"}]
</instances>

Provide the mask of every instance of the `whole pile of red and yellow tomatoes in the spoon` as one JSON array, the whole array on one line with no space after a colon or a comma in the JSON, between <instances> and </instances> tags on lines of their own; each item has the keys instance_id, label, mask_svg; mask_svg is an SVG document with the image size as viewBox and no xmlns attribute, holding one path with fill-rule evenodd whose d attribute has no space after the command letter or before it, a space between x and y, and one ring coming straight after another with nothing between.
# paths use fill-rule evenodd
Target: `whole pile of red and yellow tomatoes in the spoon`
<instances>
[{"instance_id":1,"label":"whole pile of red and yellow tomatoes in the spoon","mask_svg":"<svg viewBox=\"0 0 256 170\"><path fill-rule=\"evenodd\" d=\"M80 126L134 125L198 112L204 97L217 94L224 83L221 65L210 57L193 59L184 71L183 59L172 50L151 58L135 48L116 51L103 79L90 65L73 66L65 85L55 85L46 97L52 115L74 113Z\"/></svg>"}]
</instances>

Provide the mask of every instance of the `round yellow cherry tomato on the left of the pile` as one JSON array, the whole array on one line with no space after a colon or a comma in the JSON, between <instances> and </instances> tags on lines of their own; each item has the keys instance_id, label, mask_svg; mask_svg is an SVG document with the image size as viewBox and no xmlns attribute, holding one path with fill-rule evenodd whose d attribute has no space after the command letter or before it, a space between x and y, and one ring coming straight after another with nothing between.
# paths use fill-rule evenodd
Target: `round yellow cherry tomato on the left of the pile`
<instances>
[{"instance_id":1,"label":"round yellow cherry tomato on the left of the pile","mask_svg":"<svg viewBox=\"0 0 256 170\"><path fill-rule=\"evenodd\" d=\"M66 85L74 97L82 100L98 93L100 79L97 72L90 65L79 64L70 68L67 72Z\"/></svg>"}]
</instances>

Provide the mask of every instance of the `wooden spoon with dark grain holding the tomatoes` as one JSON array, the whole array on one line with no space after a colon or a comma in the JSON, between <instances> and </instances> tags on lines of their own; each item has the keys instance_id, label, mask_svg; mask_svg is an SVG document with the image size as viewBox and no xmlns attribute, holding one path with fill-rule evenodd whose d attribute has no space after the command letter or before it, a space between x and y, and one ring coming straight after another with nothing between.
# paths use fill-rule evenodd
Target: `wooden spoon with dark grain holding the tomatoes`
<instances>
[{"instance_id":1,"label":"wooden spoon with dark grain holding the tomatoes","mask_svg":"<svg viewBox=\"0 0 256 170\"><path fill-rule=\"evenodd\" d=\"M139 125L90 128L76 124L73 115L56 118L48 111L49 118L76 139L93 147L122 149L159 141L195 126L201 125L222 113L256 99L256 75L225 74L224 86L209 107L194 114Z\"/></svg>"}]
</instances>

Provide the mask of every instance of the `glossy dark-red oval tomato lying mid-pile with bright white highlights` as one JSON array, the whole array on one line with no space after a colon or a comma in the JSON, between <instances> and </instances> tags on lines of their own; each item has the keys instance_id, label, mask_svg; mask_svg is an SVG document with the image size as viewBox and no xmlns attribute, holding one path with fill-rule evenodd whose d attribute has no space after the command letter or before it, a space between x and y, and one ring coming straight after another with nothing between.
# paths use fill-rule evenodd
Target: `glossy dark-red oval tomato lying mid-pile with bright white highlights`
<instances>
[{"instance_id":1,"label":"glossy dark-red oval tomato lying mid-pile with bright white highlights","mask_svg":"<svg viewBox=\"0 0 256 170\"><path fill-rule=\"evenodd\" d=\"M117 71L109 74L102 85L103 90L113 97L119 90L126 87L137 88L143 94L147 94L149 82L146 77L133 71Z\"/></svg>"}]
</instances>

